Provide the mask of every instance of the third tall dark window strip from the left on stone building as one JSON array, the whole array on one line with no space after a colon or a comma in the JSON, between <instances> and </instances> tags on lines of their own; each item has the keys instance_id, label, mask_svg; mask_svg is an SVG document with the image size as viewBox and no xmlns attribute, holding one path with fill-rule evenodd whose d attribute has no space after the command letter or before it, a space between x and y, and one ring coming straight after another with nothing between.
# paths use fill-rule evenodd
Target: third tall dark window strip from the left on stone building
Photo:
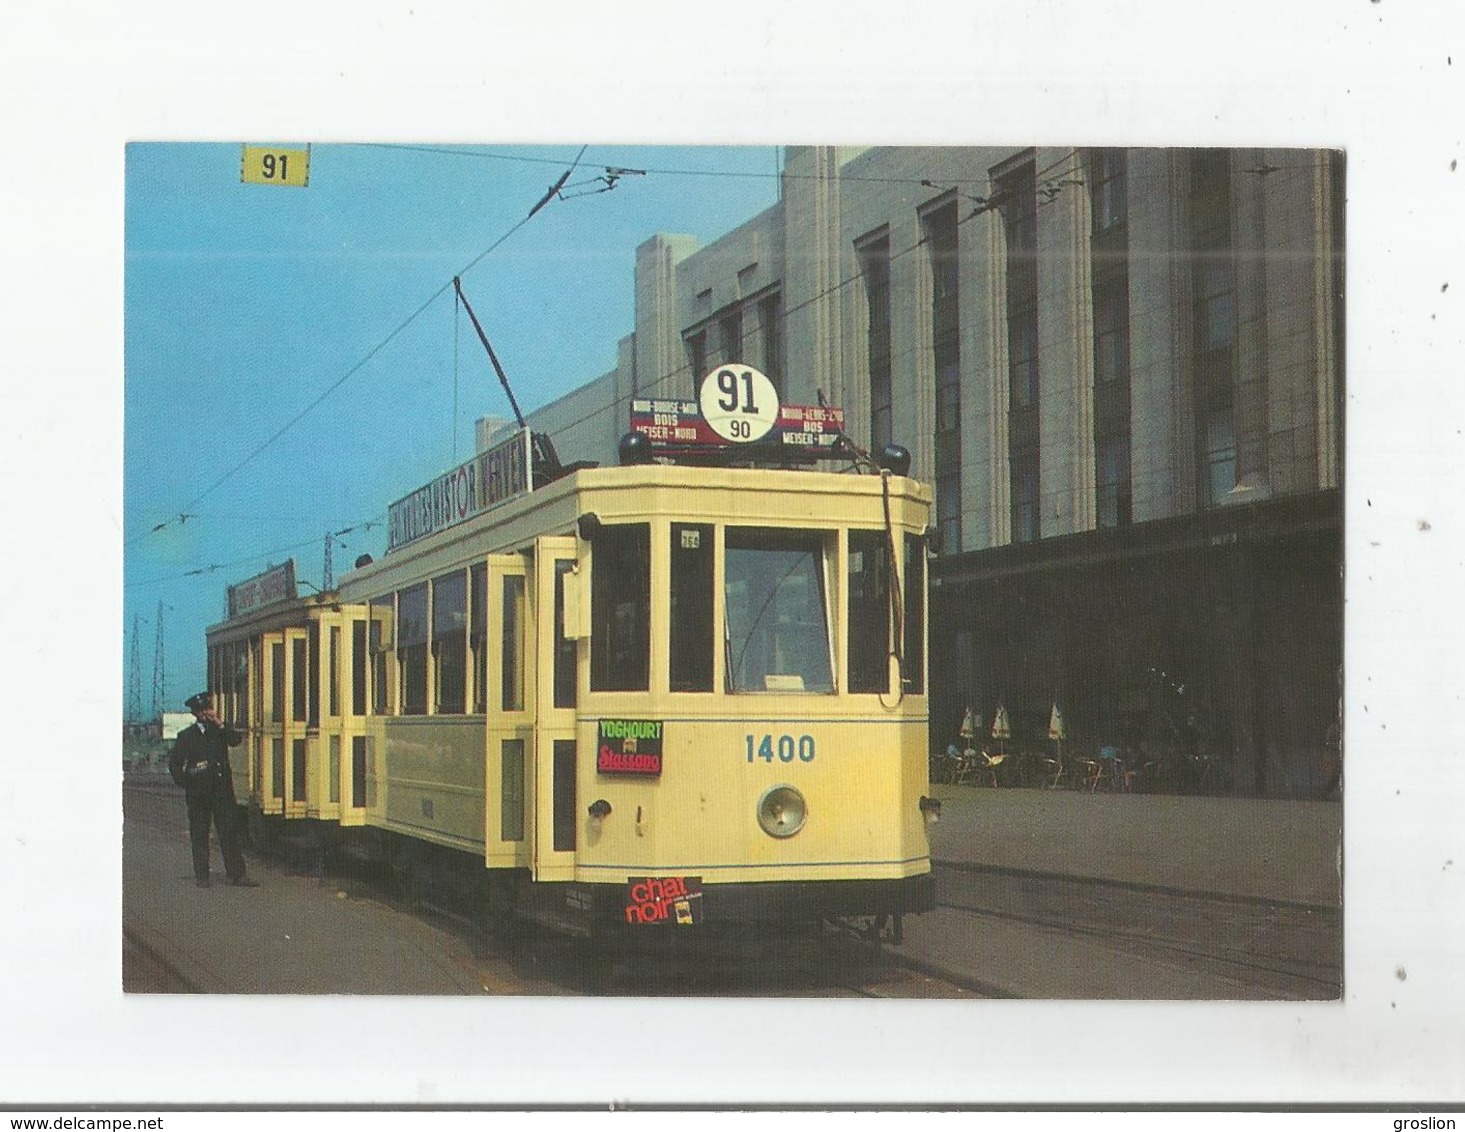
<instances>
[{"instance_id":1,"label":"third tall dark window strip from the left on stone building","mask_svg":"<svg viewBox=\"0 0 1465 1132\"><path fill-rule=\"evenodd\" d=\"M1012 542L1042 533L1042 401L1037 359L1037 180L1031 163L998 180L1006 240L1008 473Z\"/></svg>"}]
</instances>

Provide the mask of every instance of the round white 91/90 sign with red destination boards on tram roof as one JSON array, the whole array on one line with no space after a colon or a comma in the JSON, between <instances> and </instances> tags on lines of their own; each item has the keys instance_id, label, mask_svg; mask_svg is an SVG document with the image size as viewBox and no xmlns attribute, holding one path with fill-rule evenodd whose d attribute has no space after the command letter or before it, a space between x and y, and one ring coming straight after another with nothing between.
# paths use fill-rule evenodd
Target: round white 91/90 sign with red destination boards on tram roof
<instances>
[{"instance_id":1,"label":"round white 91/90 sign with red destination boards on tram roof","mask_svg":"<svg viewBox=\"0 0 1465 1132\"><path fill-rule=\"evenodd\" d=\"M696 401L636 398L631 431L658 453L697 453L749 447L775 458L834 454L844 433L844 410L781 404L778 390L752 366L719 366L702 379Z\"/></svg>"}]
</instances>

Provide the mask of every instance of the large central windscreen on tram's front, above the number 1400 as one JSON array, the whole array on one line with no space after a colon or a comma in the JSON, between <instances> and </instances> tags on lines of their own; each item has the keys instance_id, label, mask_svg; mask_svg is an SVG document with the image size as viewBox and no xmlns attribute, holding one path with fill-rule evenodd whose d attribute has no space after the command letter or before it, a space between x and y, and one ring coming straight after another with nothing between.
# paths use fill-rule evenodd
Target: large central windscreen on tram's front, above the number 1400
<instances>
[{"instance_id":1,"label":"large central windscreen on tram's front, above the number 1400","mask_svg":"<svg viewBox=\"0 0 1465 1132\"><path fill-rule=\"evenodd\" d=\"M825 540L728 527L728 691L834 691Z\"/></svg>"}]
</instances>

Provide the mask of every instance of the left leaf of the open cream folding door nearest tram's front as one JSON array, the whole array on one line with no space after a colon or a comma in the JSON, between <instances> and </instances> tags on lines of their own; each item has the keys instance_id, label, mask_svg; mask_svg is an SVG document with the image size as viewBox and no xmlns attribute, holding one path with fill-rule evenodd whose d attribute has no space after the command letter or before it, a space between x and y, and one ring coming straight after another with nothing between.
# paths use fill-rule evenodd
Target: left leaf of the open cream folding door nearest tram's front
<instances>
[{"instance_id":1,"label":"left leaf of the open cream folding door nearest tram's front","mask_svg":"<svg viewBox=\"0 0 1465 1132\"><path fill-rule=\"evenodd\" d=\"M533 605L529 559L494 554L482 577L483 595L475 609L486 609L485 644L476 663L486 663L481 701L486 719L488 805L483 813L485 860L489 868L529 868L533 864L535 808L529 788L535 754Z\"/></svg>"}]
</instances>

